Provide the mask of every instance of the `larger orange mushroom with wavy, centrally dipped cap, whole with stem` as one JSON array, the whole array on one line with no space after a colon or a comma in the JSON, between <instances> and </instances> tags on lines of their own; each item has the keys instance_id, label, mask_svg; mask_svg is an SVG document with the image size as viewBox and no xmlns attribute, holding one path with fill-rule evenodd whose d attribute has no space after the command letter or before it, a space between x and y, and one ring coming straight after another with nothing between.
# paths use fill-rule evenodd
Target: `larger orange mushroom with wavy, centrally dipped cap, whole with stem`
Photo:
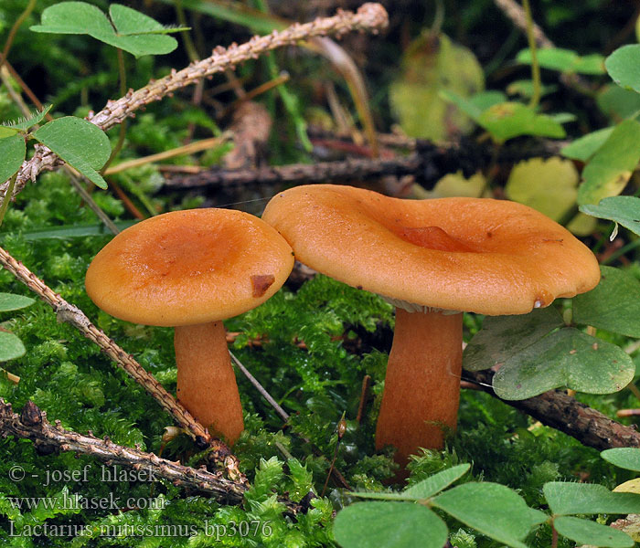
<instances>
[{"instance_id":1,"label":"larger orange mushroom with wavy, centrally dipped cap, whole with stem","mask_svg":"<svg viewBox=\"0 0 640 548\"><path fill-rule=\"evenodd\" d=\"M376 446L443 448L456 426L462 311L524 314L600 279L592 252L526 205L402 200L332 184L276 195L262 219L295 257L396 306Z\"/></svg>"}]
</instances>

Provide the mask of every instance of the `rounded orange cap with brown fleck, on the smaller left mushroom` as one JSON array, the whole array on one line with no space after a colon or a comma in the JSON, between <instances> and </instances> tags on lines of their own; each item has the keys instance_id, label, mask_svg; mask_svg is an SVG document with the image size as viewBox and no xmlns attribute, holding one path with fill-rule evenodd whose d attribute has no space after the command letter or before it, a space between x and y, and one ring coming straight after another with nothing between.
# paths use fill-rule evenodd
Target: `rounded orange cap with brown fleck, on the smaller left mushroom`
<instances>
[{"instance_id":1,"label":"rounded orange cap with brown fleck, on the smaller left mushroom","mask_svg":"<svg viewBox=\"0 0 640 548\"><path fill-rule=\"evenodd\" d=\"M116 318L175 327L251 310L292 269L292 249L258 217L190 209L123 230L93 258L85 286Z\"/></svg>"}]
</instances>

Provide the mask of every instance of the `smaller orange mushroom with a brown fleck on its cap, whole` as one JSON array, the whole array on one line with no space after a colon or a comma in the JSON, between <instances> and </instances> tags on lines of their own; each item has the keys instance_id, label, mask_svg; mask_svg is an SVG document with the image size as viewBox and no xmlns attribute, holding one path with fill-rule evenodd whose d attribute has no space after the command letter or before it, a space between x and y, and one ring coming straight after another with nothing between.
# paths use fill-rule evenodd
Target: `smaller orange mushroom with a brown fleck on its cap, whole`
<instances>
[{"instance_id":1,"label":"smaller orange mushroom with a brown fleck on its cap, whole","mask_svg":"<svg viewBox=\"0 0 640 548\"><path fill-rule=\"evenodd\" d=\"M292 269L292 249L259 218L192 209L121 232L93 259L85 285L116 318L176 328L178 399L232 444L244 424L222 320L269 299Z\"/></svg>"}]
</instances>

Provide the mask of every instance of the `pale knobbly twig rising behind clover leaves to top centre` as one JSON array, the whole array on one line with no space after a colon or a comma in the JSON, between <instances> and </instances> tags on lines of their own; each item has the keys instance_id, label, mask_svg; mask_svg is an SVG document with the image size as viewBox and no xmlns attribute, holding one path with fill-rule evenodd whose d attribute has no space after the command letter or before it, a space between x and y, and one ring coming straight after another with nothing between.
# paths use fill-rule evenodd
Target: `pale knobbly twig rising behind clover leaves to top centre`
<instances>
[{"instance_id":1,"label":"pale knobbly twig rising behind clover leaves to top centre","mask_svg":"<svg viewBox=\"0 0 640 548\"><path fill-rule=\"evenodd\" d=\"M362 5L357 13L339 11L336 16L318 18L304 25L293 24L281 32L273 31L265 37L252 37L249 42L240 46L232 44L228 48L216 47L209 58L191 63L180 71L172 70L163 79L149 82L140 90L130 90L119 100L110 100L100 112L89 117L89 121L106 131L134 112L156 100L161 100L180 88L184 88L217 72L233 68L239 63L251 58L257 58L262 53L296 44L310 37L341 36L353 30L368 30L377 32L388 23L387 12L379 4ZM48 150L47 147L36 145L36 153L22 164L16 178L14 196L27 184L28 180L35 181L37 174L43 170L51 170L62 161ZM0 186L0 196L4 197L8 184Z\"/></svg>"}]
</instances>

